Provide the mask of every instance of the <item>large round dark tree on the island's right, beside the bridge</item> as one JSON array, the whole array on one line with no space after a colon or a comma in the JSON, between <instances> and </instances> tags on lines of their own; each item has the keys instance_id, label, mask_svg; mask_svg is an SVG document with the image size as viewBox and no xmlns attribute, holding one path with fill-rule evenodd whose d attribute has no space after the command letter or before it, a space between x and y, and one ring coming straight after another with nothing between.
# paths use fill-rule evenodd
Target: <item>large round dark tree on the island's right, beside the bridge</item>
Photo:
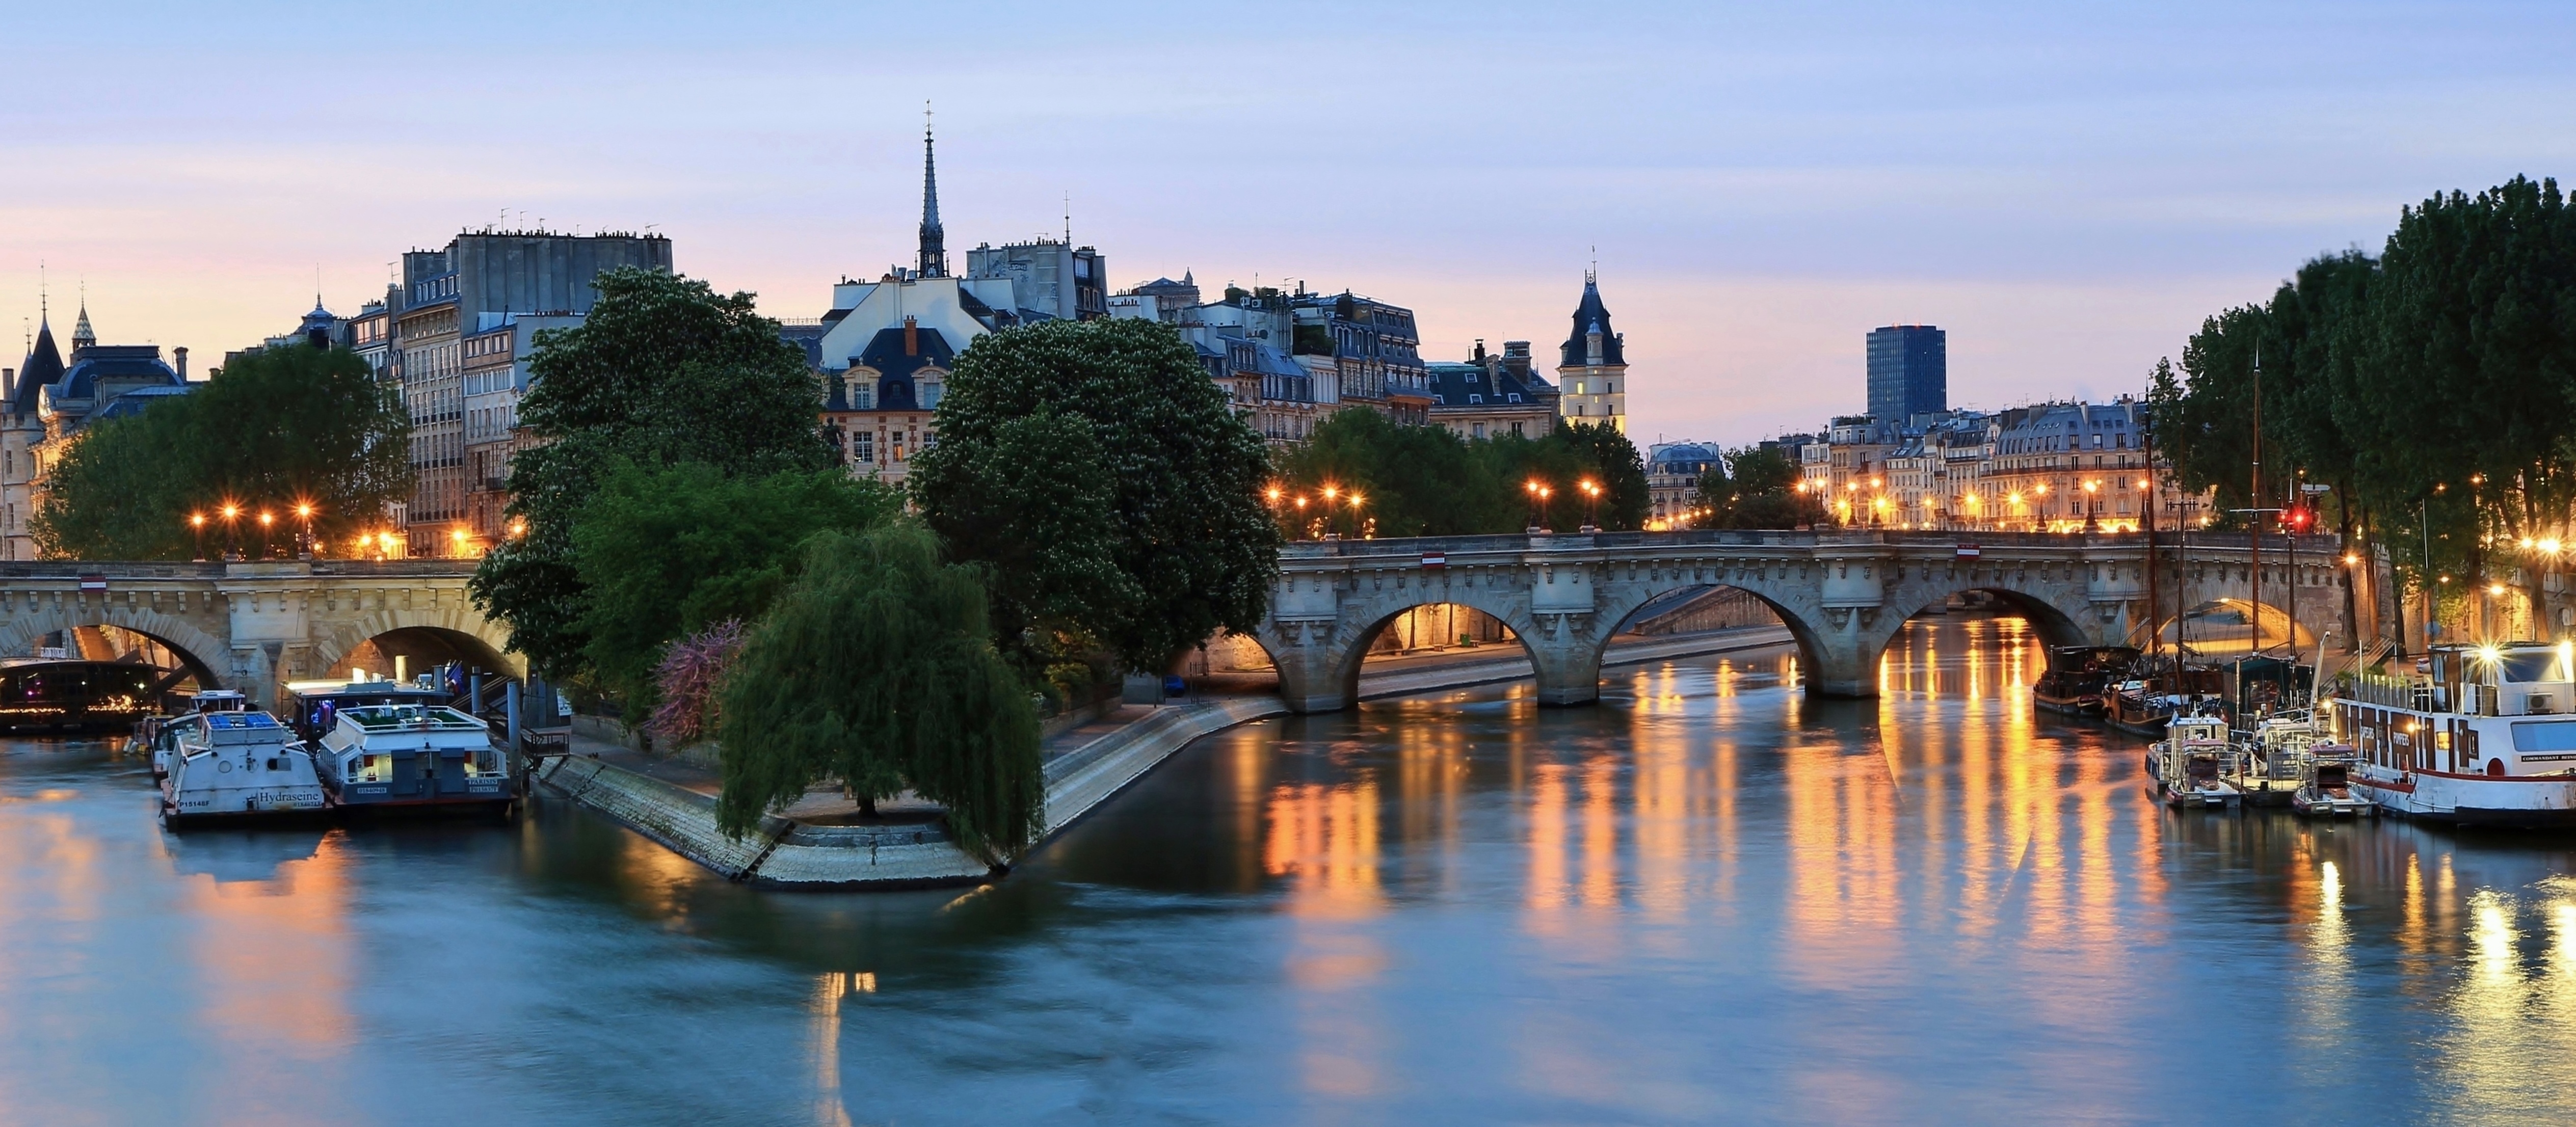
<instances>
[{"instance_id":1,"label":"large round dark tree on the island's right, beside the bridge","mask_svg":"<svg viewBox=\"0 0 2576 1127\"><path fill-rule=\"evenodd\" d=\"M989 471L1010 458L1010 425L1041 412L1092 430L1095 466L1041 468L1108 484L1105 564L1126 584L1066 589L1059 576L1095 574L1100 561L1028 571L1023 553L1002 548L1043 533L999 525L1030 512L994 497L1005 476ZM1033 623L1036 607L1054 607L1131 669L1162 669L1221 628L1260 625L1278 576L1278 527L1262 504L1267 450L1167 324L1043 322L979 337L948 376L938 435L912 463L912 491L956 558L994 569L994 589L1012 600L1005 620ZM1018 435L1084 458L1054 430Z\"/></svg>"}]
</instances>

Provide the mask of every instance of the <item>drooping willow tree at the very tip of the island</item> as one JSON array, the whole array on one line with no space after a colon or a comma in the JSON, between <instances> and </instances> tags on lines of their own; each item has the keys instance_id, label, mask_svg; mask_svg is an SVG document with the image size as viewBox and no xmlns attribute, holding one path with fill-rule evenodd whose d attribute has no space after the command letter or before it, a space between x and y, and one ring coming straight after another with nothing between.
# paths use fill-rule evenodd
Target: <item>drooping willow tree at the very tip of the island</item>
<instances>
[{"instance_id":1,"label":"drooping willow tree at the very tip of the island","mask_svg":"<svg viewBox=\"0 0 2576 1127\"><path fill-rule=\"evenodd\" d=\"M989 630L976 571L940 564L927 530L817 533L716 692L724 831L840 780L871 811L904 790L943 805L989 865L1025 849L1038 713Z\"/></svg>"}]
</instances>

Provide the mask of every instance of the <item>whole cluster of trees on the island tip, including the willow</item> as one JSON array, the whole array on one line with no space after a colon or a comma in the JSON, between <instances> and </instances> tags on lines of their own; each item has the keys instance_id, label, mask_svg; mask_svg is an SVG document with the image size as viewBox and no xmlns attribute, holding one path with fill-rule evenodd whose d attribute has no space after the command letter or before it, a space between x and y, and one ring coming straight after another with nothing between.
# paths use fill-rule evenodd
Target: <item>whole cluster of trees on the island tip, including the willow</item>
<instances>
[{"instance_id":1,"label":"whole cluster of trees on the island tip, including the willow","mask_svg":"<svg viewBox=\"0 0 2576 1127\"><path fill-rule=\"evenodd\" d=\"M526 533L474 594L536 672L714 736L726 831L837 780L940 803L999 862L1043 813L1033 697L1260 623L1262 443L1172 329L981 337L904 497L840 466L747 293L644 270L598 291L538 337Z\"/></svg>"}]
</instances>

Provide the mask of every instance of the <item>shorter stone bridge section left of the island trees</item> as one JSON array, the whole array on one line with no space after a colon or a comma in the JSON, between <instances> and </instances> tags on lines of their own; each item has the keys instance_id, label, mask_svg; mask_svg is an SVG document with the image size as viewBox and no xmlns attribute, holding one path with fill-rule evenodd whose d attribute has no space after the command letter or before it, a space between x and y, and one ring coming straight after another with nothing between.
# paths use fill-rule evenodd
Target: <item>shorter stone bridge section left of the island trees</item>
<instances>
[{"instance_id":1,"label":"shorter stone bridge section left of the island trees","mask_svg":"<svg viewBox=\"0 0 2576 1127\"><path fill-rule=\"evenodd\" d=\"M157 641L198 684L255 702L276 700L289 679L345 672L355 654L410 654L415 669L464 659L523 677L502 648L507 630L466 597L474 564L0 564L0 656L111 625Z\"/></svg>"}]
</instances>

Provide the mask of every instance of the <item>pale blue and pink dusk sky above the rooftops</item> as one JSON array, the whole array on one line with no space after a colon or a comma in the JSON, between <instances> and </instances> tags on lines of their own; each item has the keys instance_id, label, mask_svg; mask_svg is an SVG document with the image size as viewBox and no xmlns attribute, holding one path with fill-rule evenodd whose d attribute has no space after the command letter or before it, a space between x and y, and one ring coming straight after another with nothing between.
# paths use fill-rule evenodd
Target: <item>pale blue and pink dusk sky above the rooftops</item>
<instances>
[{"instance_id":1,"label":"pale blue and pink dusk sky above the rooftops","mask_svg":"<svg viewBox=\"0 0 2576 1127\"><path fill-rule=\"evenodd\" d=\"M2576 5L49 5L0 67L0 319L219 355L502 219L654 224L814 316L1064 226L1113 280L1355 288L1425 355L1564 340L1597 255L1641 440L2130 391L2308 255L2576 149ZM1595 250L1597 247L1597 250ZM70 316L57 324L67 327Z\"/></svg>"}]
</instances>

